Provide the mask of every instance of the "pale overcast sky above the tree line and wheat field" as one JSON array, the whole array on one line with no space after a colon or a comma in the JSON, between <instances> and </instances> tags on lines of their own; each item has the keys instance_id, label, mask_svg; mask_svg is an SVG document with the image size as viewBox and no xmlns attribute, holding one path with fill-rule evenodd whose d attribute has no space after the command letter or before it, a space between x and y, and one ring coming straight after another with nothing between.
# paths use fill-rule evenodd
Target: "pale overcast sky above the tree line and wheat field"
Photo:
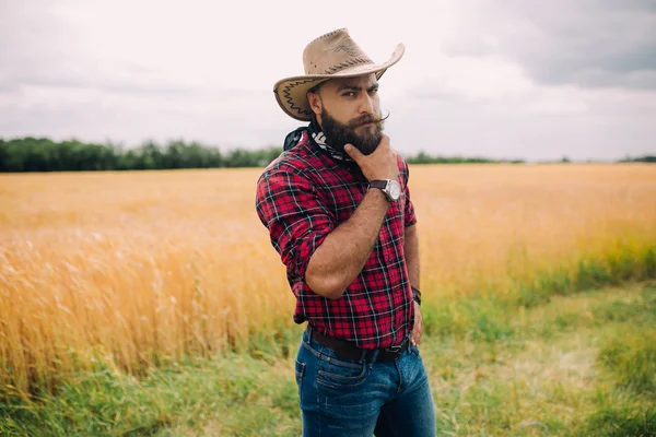
<instances>
[{"instance_id":1,"label":"pale overcast sky above the tree line and wheat field","mask_svg":"<svg viewBox=\"0 0 656 437\"><path fill-rule=\"evenodd\" d=\"M656 0L0 0L0 138L280 145L272 87L347 27L401 154L656 154Z\"/></svg>"}]
</instances>

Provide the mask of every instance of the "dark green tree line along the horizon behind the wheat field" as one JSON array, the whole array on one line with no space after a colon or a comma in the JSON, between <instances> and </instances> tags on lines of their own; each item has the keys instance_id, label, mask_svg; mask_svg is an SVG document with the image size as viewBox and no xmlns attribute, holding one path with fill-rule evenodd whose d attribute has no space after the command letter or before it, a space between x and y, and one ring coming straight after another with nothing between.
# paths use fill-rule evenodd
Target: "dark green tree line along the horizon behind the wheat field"
<instances>
[{"instance_id":1,"label":"dark green tree line along the horizon behind the wheat field","mask_svg":"<svg viewBox=\"0 0 656 437\"><path fill-rule=\"evenodd\" d=\"M157 144L147 141L125 149L110 143L83 143L78 140L56 142L46 138L0 139L0 173L8 172L89 172L145 170L174 168L265 167L281 153L281 146L259 150L219 147L181 140ZM484 157L433 156L425 152L407 155L410 164L493 164L524 163L522 160L499 161ZM621 162L656 162L643 156ZM569 162L563 158L561 162Z\"/></svg>"}]
</instances>

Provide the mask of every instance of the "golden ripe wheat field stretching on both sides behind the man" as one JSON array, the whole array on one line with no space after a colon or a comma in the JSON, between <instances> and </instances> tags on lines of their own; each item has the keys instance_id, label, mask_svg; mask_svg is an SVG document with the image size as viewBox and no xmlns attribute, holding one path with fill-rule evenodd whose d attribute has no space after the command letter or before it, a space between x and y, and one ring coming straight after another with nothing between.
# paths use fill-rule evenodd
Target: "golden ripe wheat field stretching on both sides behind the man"
<instances>
[{"instance_id":1,"label":"golden ripe wheat field stretching on both sides behind the man","mask_svg":"<svg viewBox=\"0 0 656 437\"><path fill-rule=\"evenodd\" d=\"M656 167L411 166L422 293L511 293L656 244ZM292 324L255 213L261 169L0 176L0 385L138 373Z\"/></svg>"}]
</instances>

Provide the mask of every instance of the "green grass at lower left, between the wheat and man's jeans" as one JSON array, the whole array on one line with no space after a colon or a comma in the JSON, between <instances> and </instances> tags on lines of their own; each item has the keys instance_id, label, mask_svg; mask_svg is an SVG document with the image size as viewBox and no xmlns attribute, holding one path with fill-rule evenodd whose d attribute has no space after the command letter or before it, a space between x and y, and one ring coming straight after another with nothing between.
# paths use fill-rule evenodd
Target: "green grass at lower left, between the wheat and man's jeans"
<instances>
[{"instance_id":1,"label":"green grass at lower left, between the wheat and man's jeans","mask_svg":"<svg viewBox=\"0 0 656 437\"><path fill-rule=\"evenodd\" d=\"M153 369L139 379L109 369L80 375L56 395L5 400L0 435L151 436L175 427L199 433L209 424L223 435L289 435L298 422L289 365L230 355Z\"/></svg>"}]
</instances>

